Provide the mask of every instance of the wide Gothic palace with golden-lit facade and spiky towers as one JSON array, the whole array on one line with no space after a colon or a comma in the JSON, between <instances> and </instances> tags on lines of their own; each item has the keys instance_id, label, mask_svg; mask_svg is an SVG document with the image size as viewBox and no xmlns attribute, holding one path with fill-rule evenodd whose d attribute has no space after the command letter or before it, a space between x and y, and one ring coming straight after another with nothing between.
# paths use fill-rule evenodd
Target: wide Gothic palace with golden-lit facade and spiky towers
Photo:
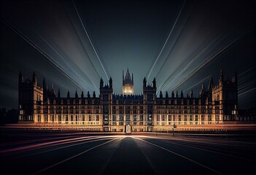
<instances>
[{"instance_id":1,"label":"wide Gothic palace with golden-lit facade and spiky towers","mask_svg":"<svg viewBox=\"0 0 256 175\"><path fill-rule=\"evenodd\" d=\"M113 91L112 78L104 85L100 79L100 94L87 96L75 93L61 97L60 90L48 88L45 80L39 87L36 74L32 79L23 79L19 74L18 106L19 122L58 127L77 127L85 131L171 131L174 125L189 128L199 125L221 125L234 120L238 107L237 76L223 79L222 72L216 85L209 79L209 85L202 85L199 96L193 91L184 96L183 92L160 92L157 85L143 79L143 93L133 95L133 75L127 70L123 75L123 94Z\"/></svg>"}]
</instances>

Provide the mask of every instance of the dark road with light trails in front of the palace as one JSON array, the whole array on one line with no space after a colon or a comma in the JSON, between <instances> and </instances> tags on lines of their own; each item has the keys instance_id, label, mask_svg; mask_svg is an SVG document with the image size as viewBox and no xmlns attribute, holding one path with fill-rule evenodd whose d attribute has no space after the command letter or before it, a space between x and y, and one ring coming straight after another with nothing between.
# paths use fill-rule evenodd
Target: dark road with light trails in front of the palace
<instances>
[{"instance_id":1,"label":"dark road with light trails in front of the palace","mask_svg":"<svg viewBox=\"0 0 256 175\"><path fill-rule=\"evenodd\" d=\"M256 163L249 141L92 133L1 138L1 174L254 174Z\"/></svg>"}]
</instances>

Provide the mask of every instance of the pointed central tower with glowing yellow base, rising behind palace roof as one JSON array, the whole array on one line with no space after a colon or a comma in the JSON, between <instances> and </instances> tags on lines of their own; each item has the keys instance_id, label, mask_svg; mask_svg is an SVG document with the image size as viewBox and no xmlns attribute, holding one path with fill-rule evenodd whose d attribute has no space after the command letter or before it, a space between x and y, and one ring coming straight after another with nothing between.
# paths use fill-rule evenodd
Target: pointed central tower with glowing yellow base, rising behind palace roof
<instances>
[{"instance_id":1,"label":"pointed central tower with glowing yellow base, rising behind palace roof","mask_svg":"<svg viewBox=\"0 0 256 175\"><path fill-rule=\"evenodd\" d=\"M125 77L123 75L123 95L133 95L133 74L127 69Z\"/></svg>"}]
</instances>

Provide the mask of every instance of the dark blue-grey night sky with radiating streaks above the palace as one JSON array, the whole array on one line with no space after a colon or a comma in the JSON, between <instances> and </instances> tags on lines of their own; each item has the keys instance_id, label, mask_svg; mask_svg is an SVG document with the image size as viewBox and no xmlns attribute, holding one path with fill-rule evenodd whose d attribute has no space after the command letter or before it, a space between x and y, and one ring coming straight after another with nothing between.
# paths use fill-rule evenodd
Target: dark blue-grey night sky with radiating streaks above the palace
<instances>
[{"instance_id":1,"label":"dark blue-grey night sky with radiating streaks above the palace","mask_svg":"<svg viewBox=\"0 0 256 175\"><path fill-rule=\"evenodd\" d=\"M158 93L189 93L238 74L241 109L256 106L253 1L1 1L0 107L18 107L18 73L45 77L61 96L99 92L122 71L156 77Z\"/></svg>"}]
</instances>

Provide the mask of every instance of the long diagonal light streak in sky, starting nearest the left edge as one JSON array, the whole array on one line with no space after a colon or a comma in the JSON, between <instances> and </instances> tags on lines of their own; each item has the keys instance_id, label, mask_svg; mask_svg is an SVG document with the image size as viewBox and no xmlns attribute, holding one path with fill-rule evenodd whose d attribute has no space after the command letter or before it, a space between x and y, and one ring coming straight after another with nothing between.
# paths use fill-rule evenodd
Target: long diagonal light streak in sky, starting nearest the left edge
<instances>
[{"instance_id":1,"label":"long diagonal light streak in sky, starting nearest the left edge","mask_svg":"<svg viewBox=\"0 0 256 175\"><path fill-rule=\"evenodd\" d=\"M79 82L76 82L69 74L66 72L65 68L61 66L57 61L55 61L53 58L50 57L44 50L42 50L39 46L37 46L34 42L32 42L26 35L24 35L21 31L18 30L18 28L15 28L15 26L12 26L11 23L9 23L4 18L1 18L1 21L4 22L9 28L12 29L12 31L15 32L15 34L18 34L22 39L24 39L28 44L30 44L32 47L34 47L35 50L37 50L39 53L41 53L44 58L47 58L50 63L52 63L53 66L55 66L58 71L61 72L66 78L68 78L71 82L74 83L74 85L77 85L80 89L83 89L82 85L79 84ZM98 91L98 90L97 90Z\"/></svg>"}]
</instances>

